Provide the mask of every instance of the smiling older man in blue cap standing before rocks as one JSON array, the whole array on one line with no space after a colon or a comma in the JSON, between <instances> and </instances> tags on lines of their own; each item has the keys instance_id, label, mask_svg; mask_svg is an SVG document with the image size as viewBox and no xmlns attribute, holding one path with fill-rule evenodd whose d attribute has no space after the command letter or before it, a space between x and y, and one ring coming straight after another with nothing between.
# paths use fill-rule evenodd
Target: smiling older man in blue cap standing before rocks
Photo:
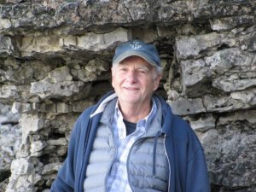
<instances>
[{"instance_id":1,"label":"smiling older man in blue cap standing before rocks","mask_svg":"<svg viewBox=\"0 0 256 192\"><path fill-rule=\"evenodd\" d=\"M201 143L154 94L161 72L153 45L117 47L114 91L80 115L52 192L210 191Z\"/></svg>"}]
</instances>

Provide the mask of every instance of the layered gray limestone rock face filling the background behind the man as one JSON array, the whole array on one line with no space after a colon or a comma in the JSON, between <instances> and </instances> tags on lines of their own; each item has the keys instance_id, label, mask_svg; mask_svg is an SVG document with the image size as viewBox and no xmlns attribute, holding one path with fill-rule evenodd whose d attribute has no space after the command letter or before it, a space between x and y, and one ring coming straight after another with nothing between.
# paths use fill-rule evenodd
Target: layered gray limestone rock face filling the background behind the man
<instances>
[{"instance_id":1,"label":"layered gray limestone rock face filling the background behind the man","mask_svg":"<svg viewBox=\"0 0 256 192\"><path fill-rule=\"evenodd\" d=\"M112 90L114 48L132 38L159 50L158 92L200 138L212 191L256 191L255 1L0 0L0 10L1 191L49 191L79 113Z\"/></svg>"}]
</instances>

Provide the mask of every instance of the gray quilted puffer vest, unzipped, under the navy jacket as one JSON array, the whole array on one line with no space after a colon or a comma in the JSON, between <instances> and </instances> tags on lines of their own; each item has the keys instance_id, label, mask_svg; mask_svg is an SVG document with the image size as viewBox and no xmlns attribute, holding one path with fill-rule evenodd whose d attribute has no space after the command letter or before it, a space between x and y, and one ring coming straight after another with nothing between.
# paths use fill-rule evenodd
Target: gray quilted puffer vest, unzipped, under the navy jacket
<instances>
[{"instance_id":1,"label":"gray quilted puffer vest, unzipped, under the navy jacket","mask_svg":"<svg viewBox=\"0 0 256 192\"><path fill-rule=\"evenodd\" d=\"M106 106L96 139L90 153L89 164L84 180L85 192L104 192L111 169L116 147L113 141L112 122L116 99ZM156 118L143 138L138 139L131 148L127 161L127 172L131 189L134 192L167 191L168 161L164 146L164 137L160 131L161 107L157 102Z\"/></svg>"}]
</instances>

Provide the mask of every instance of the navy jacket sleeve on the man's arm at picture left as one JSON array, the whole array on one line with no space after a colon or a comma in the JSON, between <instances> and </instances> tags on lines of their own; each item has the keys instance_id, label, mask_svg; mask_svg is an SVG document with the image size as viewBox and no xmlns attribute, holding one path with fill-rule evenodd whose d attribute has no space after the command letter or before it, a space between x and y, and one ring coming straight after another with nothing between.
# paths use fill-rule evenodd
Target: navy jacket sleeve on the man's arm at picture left
<instances>
[{"instance_id":1,"label":"navy jacket sleeve on the man's arm at picture left","mask_svg":"<svg viewBox=\"0 0 256 192\"><path fill-rule=\"evenodd\" d=\"M78 119L74 125L69 143L67 158L64 161L54 183L51 185L50 192L73 192L75 182L75 163L76 163L76 142L78 142L78 131L80 120Z\"/></svg>"}]
</instances>

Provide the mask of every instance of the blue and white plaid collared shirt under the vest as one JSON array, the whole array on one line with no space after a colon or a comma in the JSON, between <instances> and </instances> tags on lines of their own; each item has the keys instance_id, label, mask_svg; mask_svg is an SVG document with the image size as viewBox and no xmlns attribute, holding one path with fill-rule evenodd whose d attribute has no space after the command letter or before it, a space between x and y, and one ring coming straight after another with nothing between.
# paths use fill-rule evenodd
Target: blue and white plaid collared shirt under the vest
<instances>
[{"instance_id":1,"label":"blue and white plaid collared shirt under the vest","mask_svg":"<svg viewBox=\"0 0 256 192\"><path fill-rule=\"evenodd\" d=\"M136 131L126 137L125 123L123 121L123 115L119 111L118 102L113 114L113 136L117 146L117 156L113 161L111 171L108 175L107 180L107 191L117 192L125 191L130 192L131 187L128 183L128 175L126 169L126 162L130 149L137 141L138 138L142 137L148 129L148 126L152 122L156 113L157 107L153 100L153 108L147 117L137 122Z\"/></svg>"}]
</instances>

